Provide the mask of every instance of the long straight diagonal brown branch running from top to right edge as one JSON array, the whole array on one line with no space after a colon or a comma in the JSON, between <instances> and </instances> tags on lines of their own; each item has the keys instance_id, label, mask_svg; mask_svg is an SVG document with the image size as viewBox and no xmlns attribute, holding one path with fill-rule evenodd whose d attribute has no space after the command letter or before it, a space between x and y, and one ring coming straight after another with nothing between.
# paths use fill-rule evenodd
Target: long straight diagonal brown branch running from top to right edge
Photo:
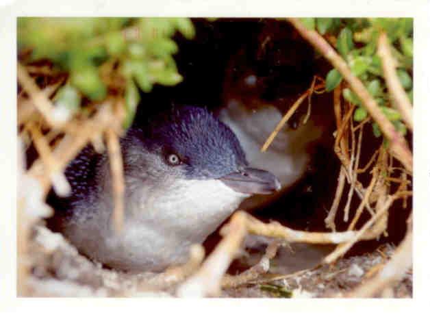
<instances>
[{"instance_id":1,"label":"long straight diagonal brown branch running from top to right edge","mask_svg":"<svg viewBox=\"0 0 430 317\"><path fill-rule=\"evenodd\" d=\"M349 69L348 65L338 53L327 43L327 41L314 30L309 30L299 21L298 18L288 18L288 21L299 31L301 36L305 38L310 44L312 44L320 53L327 59L331 64L339 71L344 79L349 83L351 89L357 97L362 101L366 110L372 116L373 120L378 123L381 131L386 138L390 141L390 151L397 160L399 160L407 170L412 171L412 153L409 150L409 146L396 131L394 125L388 120L383 114L382 110L377 105L375 99L369 94L364 87L362 81L360 81Z\"/></svg>"}]
</instances>

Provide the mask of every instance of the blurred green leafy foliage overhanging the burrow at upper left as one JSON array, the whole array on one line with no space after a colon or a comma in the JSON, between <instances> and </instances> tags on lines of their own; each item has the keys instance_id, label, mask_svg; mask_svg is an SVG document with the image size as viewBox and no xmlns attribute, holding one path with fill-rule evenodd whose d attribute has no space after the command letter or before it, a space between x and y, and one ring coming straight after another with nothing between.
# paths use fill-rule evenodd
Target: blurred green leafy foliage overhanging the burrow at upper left
<instances>
[{"instance_id":1,"label":"blurred green leafy foliage overhanging the burrow at upper left","mask_svg":"<svg viewBox=\"0 0 430 317\"><path fill-rule=\"evenodd\" d=\"M129 125L139 101L138 87L173 86L182 77L171 39L176 31L194 36L188 18L18 18L18 50L31 49L30 60L47 58L68 71L68 83L55 101L76 110L81 96L101 101L108 94L101 67L116 63L123 78ZM137 86L136 86L137 85Z\"/></svg>"}]
</instances>

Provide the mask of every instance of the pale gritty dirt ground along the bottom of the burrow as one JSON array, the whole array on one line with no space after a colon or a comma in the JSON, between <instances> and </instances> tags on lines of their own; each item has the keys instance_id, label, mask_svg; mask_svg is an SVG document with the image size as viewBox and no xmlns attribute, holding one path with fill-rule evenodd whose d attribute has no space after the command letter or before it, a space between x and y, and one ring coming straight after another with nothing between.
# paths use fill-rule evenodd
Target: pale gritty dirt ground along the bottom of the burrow
<instances>
[{"instance_id":1,"label":"pale gritty dirt ground along the bottom of the burrow","mask_svg":"<svg viewBox=\"0 0 430 317\"><path fill-rule=\"evenodd\" d=\"M61 234L53 233L43 225L35 227L29 250L32 264L30 296L175 296L176 285L166 281L151 287L148 281L157 277L153 273L135 275L103 268L80 255ZM329 248L307 248L305 245L279 249L277 257L270 262L268 274L246 285L223 290L220 297L341 296L375 275L392 255L394 246L383 244L372 253L318 267L318 261L328 251ZM258 248L254 248L236 260L236 266L251 265L261 255ZM412 297L412 272L407 273L391 294L383 295Z\"/></svg>"}]
</instances>

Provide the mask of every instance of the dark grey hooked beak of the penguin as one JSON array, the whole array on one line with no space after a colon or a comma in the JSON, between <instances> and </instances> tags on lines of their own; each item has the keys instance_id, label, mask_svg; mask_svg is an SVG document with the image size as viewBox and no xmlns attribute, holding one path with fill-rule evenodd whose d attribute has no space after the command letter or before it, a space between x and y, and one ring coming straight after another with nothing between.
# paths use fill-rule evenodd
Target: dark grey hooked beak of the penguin
<instances>
[{"instance_id":1,"label":"dark grey hooked beak of the penguin","mask_svg":"<svg viewBox=\"0 0 430 317\"><path fill-rule=\"evenodd\" d=\"M225 185L244 194L273 194L281 189L281 183L272 173L257 168L244 168L219 178Z\"/></svg>"}]
</instances>

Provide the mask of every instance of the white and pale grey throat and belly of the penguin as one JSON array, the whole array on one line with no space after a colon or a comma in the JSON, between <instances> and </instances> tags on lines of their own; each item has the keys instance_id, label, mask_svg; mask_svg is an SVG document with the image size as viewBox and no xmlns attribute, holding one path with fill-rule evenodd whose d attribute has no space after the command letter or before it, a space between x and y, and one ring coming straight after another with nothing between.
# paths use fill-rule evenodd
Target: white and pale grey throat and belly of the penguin
<instances>
[{"instance_id":1,"label":"white and pale grey throat and belly of the penguin","mask_svg":"<svg viewBox=\"0 0 430 317\"><path fill-rule=\"evenodd\" d=\"M94 218L71 226L69 238L110 266L160 271L185 262L190 245L203 242L249 196L218 180L177 180L162 192L139 187L127 197L120 234L101 225L105 219Z\"/></svg>"}]
</instances>

